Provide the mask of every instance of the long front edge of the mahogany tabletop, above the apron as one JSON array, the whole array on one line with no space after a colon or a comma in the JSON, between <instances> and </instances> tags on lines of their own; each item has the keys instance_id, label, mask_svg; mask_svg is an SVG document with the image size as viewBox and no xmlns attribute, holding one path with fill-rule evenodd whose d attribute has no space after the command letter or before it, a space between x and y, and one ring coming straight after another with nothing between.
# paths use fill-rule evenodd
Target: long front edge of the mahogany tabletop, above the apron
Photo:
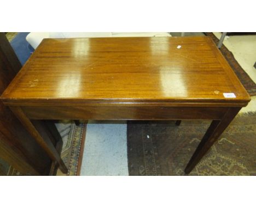
<instances>
[{"instance_id":1,"label":"long front edge of the mahogany tabletop, above the apron","mask_svg":"<svg viewBox=\"0 0 256 208\"><path fill-rule=\"evenodd\" d=\"M195 106L245 107L251 97L243 100L214 99L15 99L0 97L6 106Z\"/></svg>"}]
</instances>

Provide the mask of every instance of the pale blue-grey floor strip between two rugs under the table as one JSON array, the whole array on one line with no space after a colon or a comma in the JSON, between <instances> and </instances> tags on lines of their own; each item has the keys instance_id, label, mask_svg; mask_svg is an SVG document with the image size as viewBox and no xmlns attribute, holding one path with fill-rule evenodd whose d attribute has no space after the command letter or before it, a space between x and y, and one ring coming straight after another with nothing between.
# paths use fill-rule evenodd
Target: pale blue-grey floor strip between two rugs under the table
<instances>
[{"instance_id":1,"label":"pale blue-grey floor strip between two rugs under the table","mask_svg":"<svg viewBox=\"0 0 256 208\"><path fill-rule=\"evenodd\" d=\"M89 121L81 175L128 175L126 121Z\"/></svg>"}]
</instances>

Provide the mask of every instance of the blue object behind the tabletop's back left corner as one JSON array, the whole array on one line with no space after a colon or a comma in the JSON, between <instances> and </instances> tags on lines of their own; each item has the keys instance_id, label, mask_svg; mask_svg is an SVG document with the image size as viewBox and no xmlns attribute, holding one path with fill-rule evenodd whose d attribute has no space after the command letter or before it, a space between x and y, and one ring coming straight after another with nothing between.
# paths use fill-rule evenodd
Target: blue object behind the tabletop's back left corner
<instances>
[{"instance_id":1,"label":"blue object behind the tabletop's back left corner","mask_svg":"<svg viewBox=\"0 0 256 208\"><path fill-rule=\"evenodd\" d=\"M16 56L20 60L23 66L27 59L30 58L31 53L34 51L32 46L26 41L26 36L29 33L18 33L13 40L11 40L10 45L16 53Z\"/></svg>"}]
</instances>

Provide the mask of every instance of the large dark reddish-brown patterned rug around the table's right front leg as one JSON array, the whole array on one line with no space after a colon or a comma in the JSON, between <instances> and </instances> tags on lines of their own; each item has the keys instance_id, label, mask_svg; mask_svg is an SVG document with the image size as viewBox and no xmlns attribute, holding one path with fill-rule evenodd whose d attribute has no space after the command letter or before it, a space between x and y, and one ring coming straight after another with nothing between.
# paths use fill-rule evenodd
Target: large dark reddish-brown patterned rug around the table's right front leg
<instances>
[{"instance_id":1,"label":"large dark reddish-brown patterned rug around the table's right front leg","mask_svg":"<svg viewBox=\"0 0 256 208\"><path fill-rule=\"evenodd\" d=\"M187 175L210 121L127 124L129 175ZM238 115L188 175L256 175L256 112Z\"/></svg>"}]
</instances>

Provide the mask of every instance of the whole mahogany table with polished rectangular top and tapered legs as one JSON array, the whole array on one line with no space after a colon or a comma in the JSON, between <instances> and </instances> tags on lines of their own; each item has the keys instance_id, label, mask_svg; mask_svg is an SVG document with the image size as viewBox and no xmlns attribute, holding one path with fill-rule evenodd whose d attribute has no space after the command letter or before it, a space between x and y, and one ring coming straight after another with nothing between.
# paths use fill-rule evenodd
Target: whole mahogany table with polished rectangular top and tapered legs
<instances>
[{"instance_id":1,"label":"whole mahogany table with polished rectangular top and tapered legs","mask_svg":"<svg viewBox=\"0 0 256 208\"><path fill-rule=\"evenodd\" d=\"M1 100L63 173L32 119L211 119L189 173L250 97L205 36L44 39Z\"/></svg>"}]
</instances>

